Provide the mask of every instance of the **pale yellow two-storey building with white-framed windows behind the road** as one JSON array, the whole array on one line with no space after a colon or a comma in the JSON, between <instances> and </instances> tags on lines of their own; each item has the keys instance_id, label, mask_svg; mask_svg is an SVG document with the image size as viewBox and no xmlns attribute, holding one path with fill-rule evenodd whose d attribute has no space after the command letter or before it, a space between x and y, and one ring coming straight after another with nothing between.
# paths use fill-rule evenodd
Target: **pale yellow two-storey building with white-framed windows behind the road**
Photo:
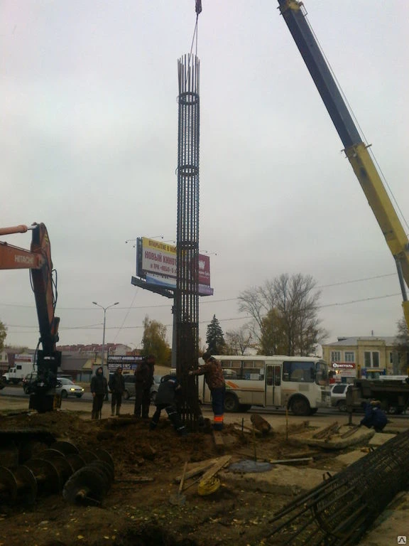
<instances>
[{"instance_id":1,"label":"pale yellow two-storey building with white-framed windows behind the road","mask_svg":"<svg viewBox=\"0 0 409 546\"><path fill-rule=\"evenodd\" d=\"M408 373L408 353L398 353L395 337L338 338L322 346L322 358L334 372L335 381Z\"/></svg>"}]
</instances>

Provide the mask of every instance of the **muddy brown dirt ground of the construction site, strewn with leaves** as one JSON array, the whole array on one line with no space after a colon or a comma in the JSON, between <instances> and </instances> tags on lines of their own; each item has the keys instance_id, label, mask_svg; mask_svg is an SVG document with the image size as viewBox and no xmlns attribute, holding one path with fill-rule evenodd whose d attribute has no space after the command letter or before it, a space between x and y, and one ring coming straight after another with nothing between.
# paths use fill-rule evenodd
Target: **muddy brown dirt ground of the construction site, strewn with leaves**
<instances>
[{"instance_id":1,"label":"muddy brown dirt ground of the construction site, strewn with leaves","mask_svg":"<svg viewBox=\"0 0 409 546\"><path fill-rule=\"evenodd\" d=\"M97 506L67 504L61 493L45 491L39 492L32 505L11 505L4 494L0 505L0 546L273 545L268 534L274 513L322 480L325 473L342 471L346 463L339 455L357 453L366 444L363 441L343 450L300 445L297 438L313 431L312 427L334 422L334 417L327 416L310 420L290 416L286 426L285 415L263 414L273 431L262 437L251 432L250 414L227 414L222 432L224 446L217 447L211 427L181 438L165 417L156 431L150 431L148 422L136 421L131 415L109 417L107 404L99 421L89 419L90 408L84 402L72 402L67 405L70 409L47 414L28 412L24 409L26 404L26 400L0 397L0 429L42 429L58 440L72 442L80 453L104 449L114 460L115 478ZM211 417L211 412L205 410L205 417ZM347 417L338 420L346 423ZM400 427L408 425L405 419ZM47 447L32 444L32 456ZM300 461L301 466L274 464L281 481L267 486L261 474L257 482L246 474L222 471L221 486L208 496L198 494L196 476L185 481L185 486L189 486L182 492L185 502L170 503L170 498L178 493L175 478L182 474L185 461L187 468L192 469L201 461L226 455L231 456L230 463L254 459L310 460ZM361 544L395 545L398 536L405 535L409 540L408 508L409 498L403 493L395 506L376 521L376 526L383 527L369 532Z\"/></svg>"}]
</instances>

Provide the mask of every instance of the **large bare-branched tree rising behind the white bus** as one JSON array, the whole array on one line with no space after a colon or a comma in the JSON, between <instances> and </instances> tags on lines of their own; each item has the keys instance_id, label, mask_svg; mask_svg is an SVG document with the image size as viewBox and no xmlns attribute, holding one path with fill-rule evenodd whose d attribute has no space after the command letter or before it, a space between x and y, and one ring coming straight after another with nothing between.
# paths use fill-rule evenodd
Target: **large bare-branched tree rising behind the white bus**
<instances>
[{"instance_id":1,"label":"large bare-branched tree rising behind the white bus","mask_svg":"<svg viewBox=\"0 0 409 546\"><path fill-rule=\"evenodd\" d=\"M310 275L282 274L263 287L245 290L239 310L253 318L259 350L266 354L308 355L327 336L320 327L321 292ZM263 354L264 354L263 353Z\"/></svg>"}]
</instances>

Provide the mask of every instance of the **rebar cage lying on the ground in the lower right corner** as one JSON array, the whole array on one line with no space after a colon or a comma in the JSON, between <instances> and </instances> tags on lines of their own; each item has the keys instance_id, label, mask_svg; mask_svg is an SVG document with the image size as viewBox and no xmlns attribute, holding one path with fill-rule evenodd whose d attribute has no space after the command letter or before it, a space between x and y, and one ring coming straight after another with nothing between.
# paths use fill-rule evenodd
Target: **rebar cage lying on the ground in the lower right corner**
<instances>
[{"instance_id":1,"label":"rebar cage lying on the ground in the lower right corner","mask_svg":"<svg viewBox=\"0 0 409 546\"><path fill-rule=\"evenodd\" d=\"M269 544L357 544L394 496L409 486L409 430L286 505Z\"/></svg>"}]
</instances>

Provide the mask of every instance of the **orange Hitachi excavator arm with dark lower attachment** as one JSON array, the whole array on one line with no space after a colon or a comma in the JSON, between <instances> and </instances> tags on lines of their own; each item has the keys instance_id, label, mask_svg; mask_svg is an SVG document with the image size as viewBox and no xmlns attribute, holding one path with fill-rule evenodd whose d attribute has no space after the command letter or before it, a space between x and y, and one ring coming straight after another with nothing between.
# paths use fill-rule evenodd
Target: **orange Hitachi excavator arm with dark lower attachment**
<instances>
[{"instance_id":1,"label":"orange Hitachi excavator arm with dark lower attachment","mask_svg":"<svg viewBox=\"0 0 409 546\"><path fill-rule=\"evenodd\" d=\"M48 412L60 406L60 397L55 395L61 353L56 349L60 319L55 316L57 302L53 279L53 262L47 228L40 223L0 228L0 235L32 231L31 248L26 250L0 242L0 269L30 269L31 286L36 299L40 339L37 350L37 378L33 383L30 408Z\"/></svg>"}]
</instances>

